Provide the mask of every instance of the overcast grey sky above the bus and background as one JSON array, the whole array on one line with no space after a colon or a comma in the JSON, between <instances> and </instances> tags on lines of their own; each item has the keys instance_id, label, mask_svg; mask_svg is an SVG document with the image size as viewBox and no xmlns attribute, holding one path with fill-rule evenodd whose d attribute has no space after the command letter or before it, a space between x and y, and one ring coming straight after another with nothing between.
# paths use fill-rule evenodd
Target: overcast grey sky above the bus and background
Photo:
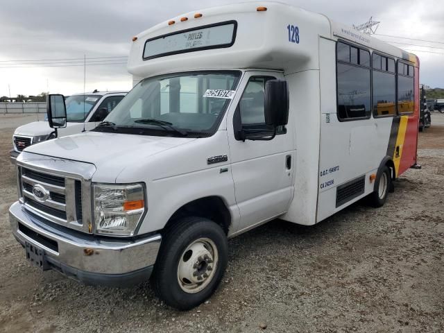
<instances>
[{"instance_id":1,"label":"overcast grey sky above the bus and background","mask_svg":"<svg viewBox=\"0 0 444 333\"><path fill-rule=\"evenodd\" d=\"M126 56L133 35L182 12L203 9L233 0L3 0L0 10L0 96L35 95L40 92L73 94L83 92L83 57L87 67L86 89L130 89ZM420 82L444 87L444 2L443 0L282 0L335 21L361 24L382 22L381 40L434 48L395 44L420 57ZM430 40L441 43L421 42ZM413 51L414 52L414 51ZM106 58L105 58L106 57ZM122 58L116 58L122 57ZM49 61L35 61L35 60ZM56 59L69 67L53 66ZM34 61L17 61L34 60ZM37 65L36 63L40 65ZM67 63L69 62L69 63ZM101 65L108 63L112 65ZM94 66L93 66L94 64ZM38 66L38 67L37 67ZM17 68L19 67L19 68ZM26 68L24 68L26 67Z\"/></svg>"}]
</instances>

